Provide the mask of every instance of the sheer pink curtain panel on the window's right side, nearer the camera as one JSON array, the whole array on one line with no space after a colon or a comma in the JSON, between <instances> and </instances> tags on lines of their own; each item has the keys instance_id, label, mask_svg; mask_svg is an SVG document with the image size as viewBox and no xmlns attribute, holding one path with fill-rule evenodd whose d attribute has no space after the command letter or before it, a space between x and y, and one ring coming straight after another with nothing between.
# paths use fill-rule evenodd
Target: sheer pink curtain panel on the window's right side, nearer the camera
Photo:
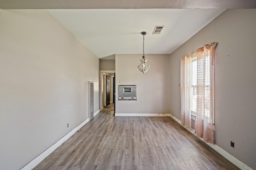
<instances>
[{"instance_id":1,"label":"sheer pink curtain panel on the window's right side, nearer the camera","mask_svg":"<svg viewBox=\"0 0 256 170\"><path fill-rule=\"evenodd\" d=\"M197 106L195 134L214 143L214 53L217 43L205 45L197 53Z\"/></svg>"}]
</instances>

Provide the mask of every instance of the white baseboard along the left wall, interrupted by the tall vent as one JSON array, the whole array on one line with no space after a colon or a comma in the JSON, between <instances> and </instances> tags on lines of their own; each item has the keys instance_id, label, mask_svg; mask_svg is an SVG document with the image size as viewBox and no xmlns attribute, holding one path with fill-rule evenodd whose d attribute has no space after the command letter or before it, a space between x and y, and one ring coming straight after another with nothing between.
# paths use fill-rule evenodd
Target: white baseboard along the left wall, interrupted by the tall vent
<instances>
[{"instance_id":1,"label":"white baseboard along the left wall, interrupted by the tall vent","mask_svg":"<svg viewBox=\"0 0 256 170\"><path fill-rule=\"evenodd\" d=\"M100 113L100 110L96 111L94 113L94 116ZM86 123L89 122L89 118L83 121L80 125L78 125L76 128L74 128L72 131L70 131L67 135L62 137L60 140L58 140L56 143L54 143L51 147L46 149L44 152L42 152L40 155L38 155L36 158L31 160L28 164L26 164L23 168L20 170L31 170L36 165L38 165L44 158L46 158L49 154L51 154L55 149L57 149L62 143L64 143L68 138L70 138L76 131L78 131L81 127L83 127Z\"/></svg>"}]
</instances>

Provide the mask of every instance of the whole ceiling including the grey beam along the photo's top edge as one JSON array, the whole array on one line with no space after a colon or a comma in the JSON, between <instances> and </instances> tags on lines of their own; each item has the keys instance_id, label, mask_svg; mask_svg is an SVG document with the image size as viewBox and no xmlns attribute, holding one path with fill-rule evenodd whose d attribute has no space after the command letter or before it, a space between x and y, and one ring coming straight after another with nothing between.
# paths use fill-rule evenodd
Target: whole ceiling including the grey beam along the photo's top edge
<instances>
[{"instance_id":1,"label":"whole ceiling including the grey beam along the photo's top edge","mask_svg":"<svg viewBox=\"0 0 256 170\"><path fill-rule=\"evenodd\" d=\"M48 9L100 59L142 54L142 31L145 54L170 54L226 8L255 7L256 0L0 0L1 9ZM159 35L155 26L164 26Z\"/></svg>"}]
</instances>

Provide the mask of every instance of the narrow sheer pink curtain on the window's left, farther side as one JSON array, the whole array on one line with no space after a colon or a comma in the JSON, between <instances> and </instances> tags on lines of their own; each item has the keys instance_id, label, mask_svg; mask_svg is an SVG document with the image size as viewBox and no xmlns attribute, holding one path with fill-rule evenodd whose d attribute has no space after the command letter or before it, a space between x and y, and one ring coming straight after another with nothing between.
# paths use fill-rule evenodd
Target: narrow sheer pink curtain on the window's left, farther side
<instances>
[{"instance_id":1,"label":"narrow sheer pink curtain on the window's left, farther side","mask_svg":"<svg viewBox=\"0 0 256 170\"><path fill-rule=\"evenodd\" d=\"M191 56L180 61L181 125L191 130Z\"/></svg>"}]
</instances>

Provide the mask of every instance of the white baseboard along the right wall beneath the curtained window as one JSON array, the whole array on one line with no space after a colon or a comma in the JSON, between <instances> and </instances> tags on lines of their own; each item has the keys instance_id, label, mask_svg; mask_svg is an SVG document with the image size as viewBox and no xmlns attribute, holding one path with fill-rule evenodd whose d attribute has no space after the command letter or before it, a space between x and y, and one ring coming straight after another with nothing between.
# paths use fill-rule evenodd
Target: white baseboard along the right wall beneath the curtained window
<instances>
[{"instance_id":1,"label":"white baseboard along the right wall beneath the curtained window","mask_svg":"<svg viewBox=\"0 0 256 170\"><path fill-rule=\"evenodd\" d=\"M174 119L176 122L178 122L181 125L181 121L176 118L174 115L170 114L170 117L172 117L172 119ZM190 131L188 129L188 131ZM193 135L195 134L195 131L192 129L190 131ZM201 139L203 141L202 138L198 137L199 139ZM205 142L204 142L205 143ZM238 168L240 168L241 170L253 170L252 168L250 168L249 166L247 166L246 164L244 164L242 161L238 160L237 158L235 158L232 154L228 153L226 150L222 149L221 147L219 147L216 144L211 144L211 143L206 143L207 145L209 145L212 149L216 150L219 154L221 154L222 156L224 156L227 160L229 160L230 162L232 162L234 165L236 165Z\"/></svg>"}]
</instances>

